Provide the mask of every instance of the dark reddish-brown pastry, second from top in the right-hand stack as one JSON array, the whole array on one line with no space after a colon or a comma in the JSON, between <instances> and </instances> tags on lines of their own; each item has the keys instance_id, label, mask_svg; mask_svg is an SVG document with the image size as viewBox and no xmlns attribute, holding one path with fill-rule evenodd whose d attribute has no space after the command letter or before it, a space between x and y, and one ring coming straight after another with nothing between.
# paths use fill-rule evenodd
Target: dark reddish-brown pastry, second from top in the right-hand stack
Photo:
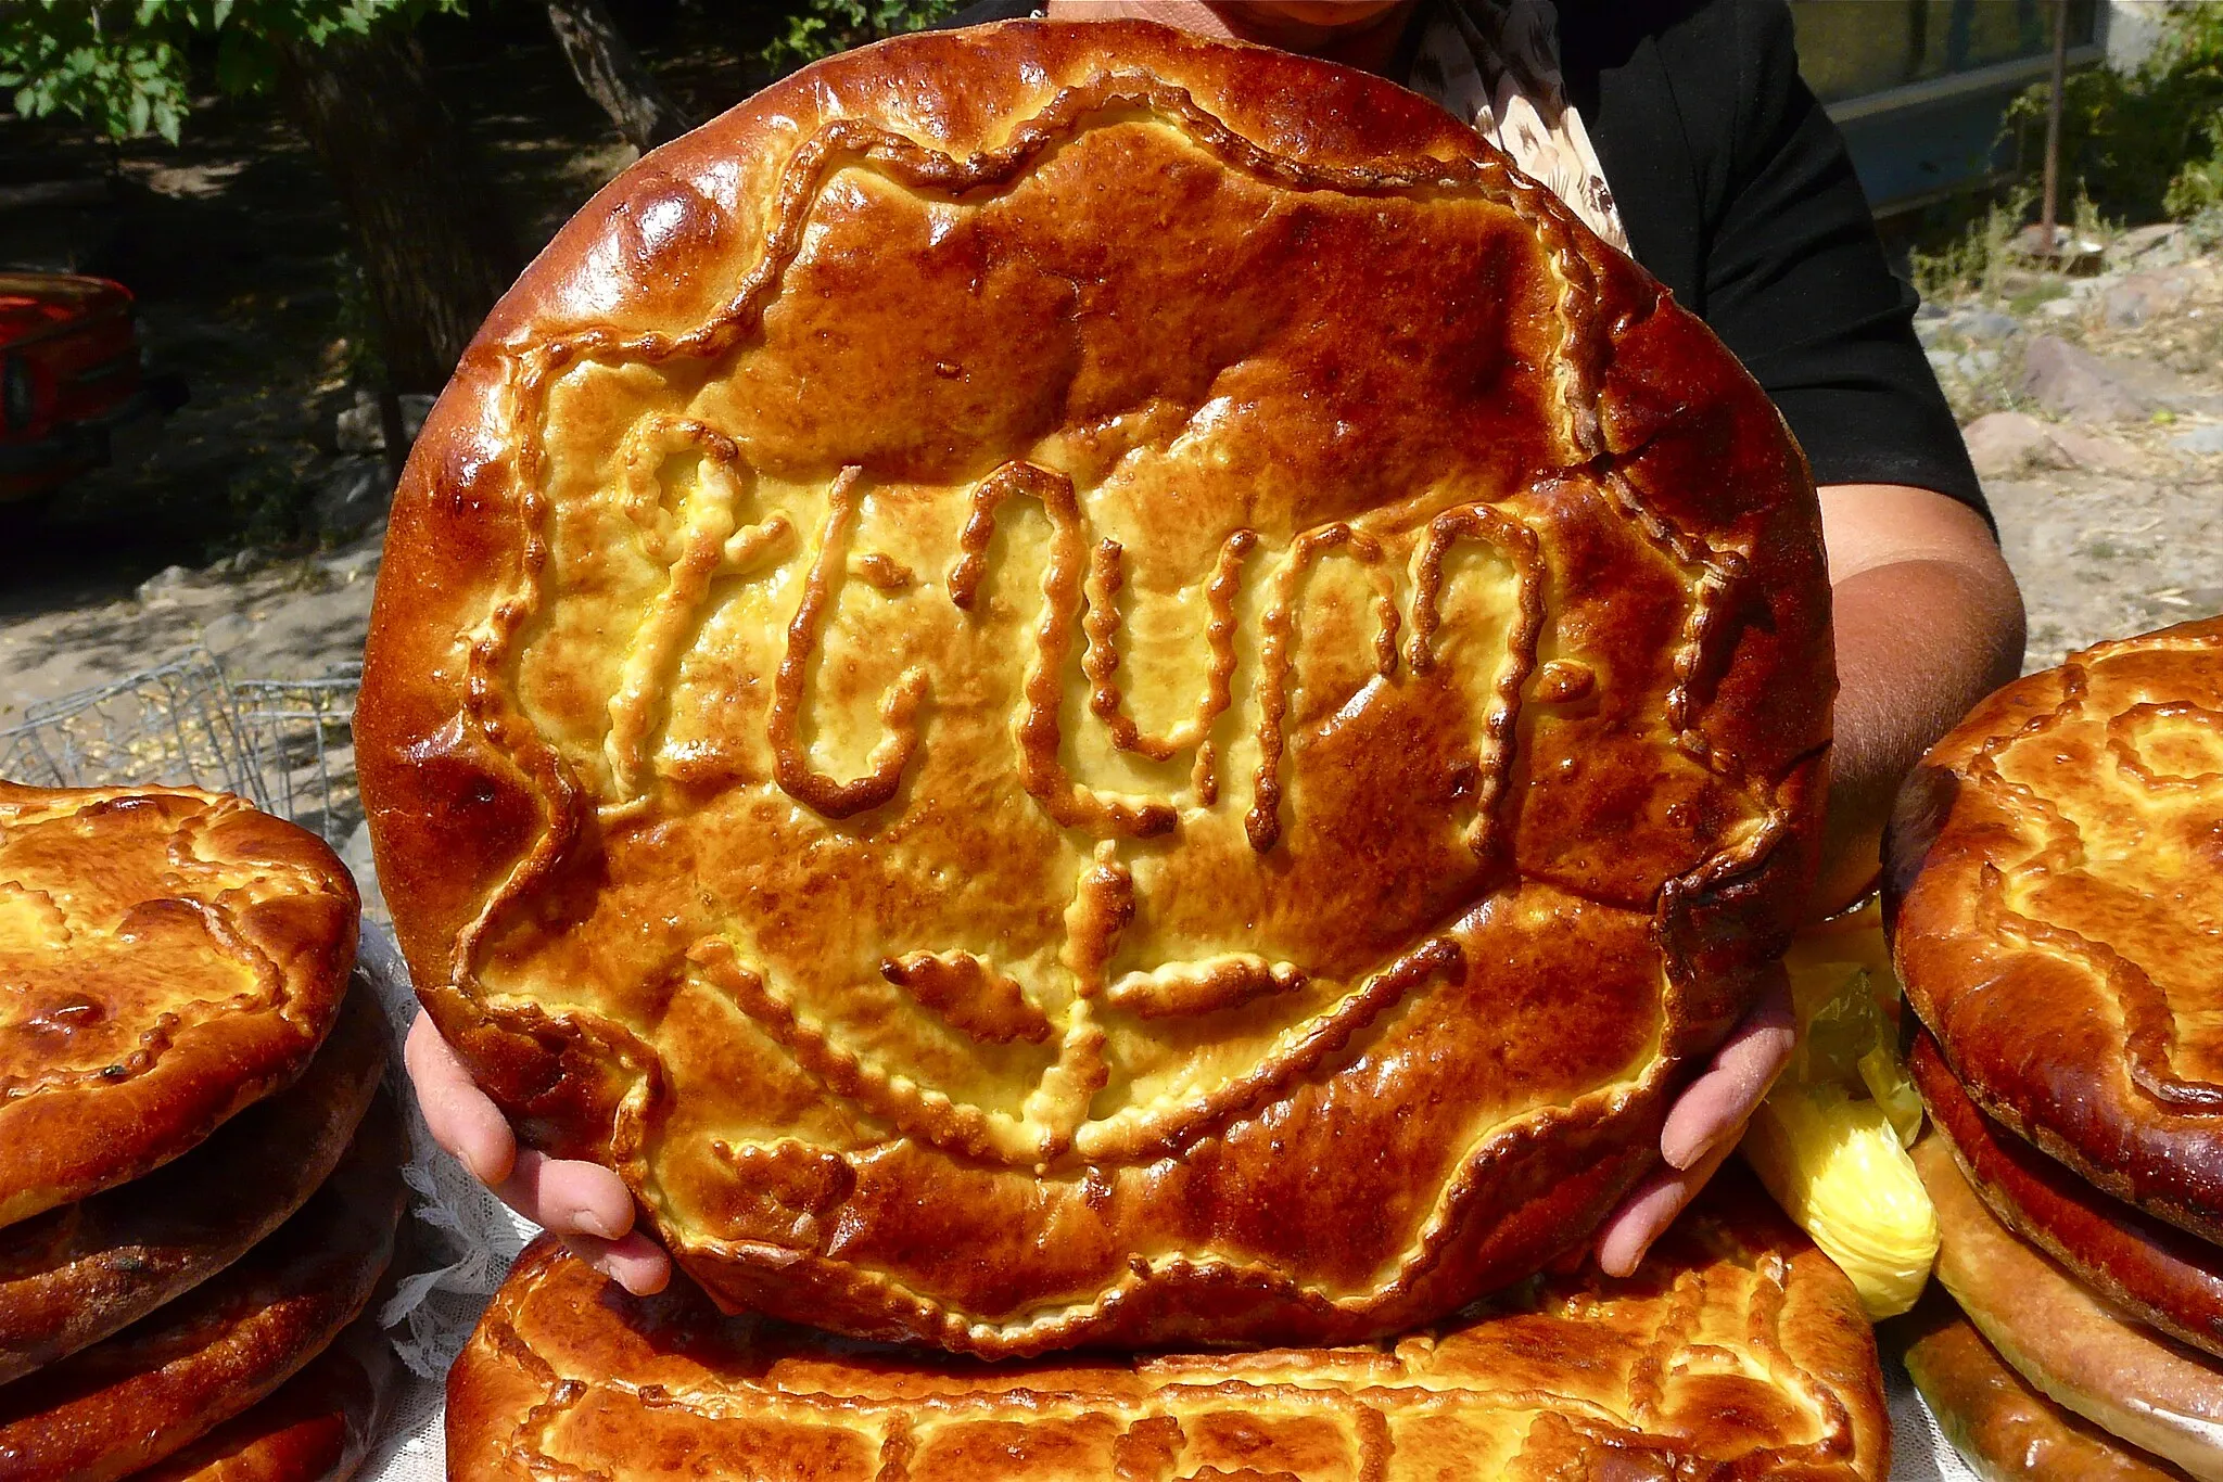
<instances>
[{"instance_id":1,"label":"dark reddish-brown pastry, second from top in the right-hand stack","mask_svg":"<svg viewBox=\"0 0 2223 1482\"><path fill-rule=\"evenodd\" d=\"M2223 1358L2223 1251L2110 1198L1992 1122L1918 1033L1914 1084L1945 1146L2001 1224L2123 1313Z\"/></svg>"}]
</instances>

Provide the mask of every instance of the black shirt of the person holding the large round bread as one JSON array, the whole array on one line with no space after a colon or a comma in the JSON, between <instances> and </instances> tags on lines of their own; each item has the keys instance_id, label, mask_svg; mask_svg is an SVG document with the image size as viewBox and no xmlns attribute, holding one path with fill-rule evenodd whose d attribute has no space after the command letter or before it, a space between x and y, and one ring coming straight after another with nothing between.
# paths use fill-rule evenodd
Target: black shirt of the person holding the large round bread
<instances>
[{"instance_id":1,"label":"black shirt of the person holding the large round bread","mask_svg":"<svg viewBox=\"0 0 2223 1482\"><path fill-rule=\"evenodd\" d=\"M949 24L1029 16L987 0ZM1783 0L1558 0L1561 71L1636 260L1767 389L1816 484L1914 484L1990 520ZM1414 42L1416 38L1409 38ZM1392 71L1392 76L1398 76Z\"/></svg>"}]
</instances>

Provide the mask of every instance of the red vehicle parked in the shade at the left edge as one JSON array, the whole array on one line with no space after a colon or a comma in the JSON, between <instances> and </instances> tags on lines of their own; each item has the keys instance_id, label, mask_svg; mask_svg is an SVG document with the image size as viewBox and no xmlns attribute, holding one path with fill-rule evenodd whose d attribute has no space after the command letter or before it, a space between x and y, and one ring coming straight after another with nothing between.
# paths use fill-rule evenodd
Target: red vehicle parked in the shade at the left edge
<instances>
[{"instance_id":1,"label":"red vehicle parked in the shade at the left edge","mask_svg":"<svg viewBox=\"0 0 2223 1482\"><path fill-rule=\"evenodd\" d=\"M182 402L178 380L140 373L127 287L0 273L0 500L98 469L118 429Z\"/></svg>"}]
</instances>

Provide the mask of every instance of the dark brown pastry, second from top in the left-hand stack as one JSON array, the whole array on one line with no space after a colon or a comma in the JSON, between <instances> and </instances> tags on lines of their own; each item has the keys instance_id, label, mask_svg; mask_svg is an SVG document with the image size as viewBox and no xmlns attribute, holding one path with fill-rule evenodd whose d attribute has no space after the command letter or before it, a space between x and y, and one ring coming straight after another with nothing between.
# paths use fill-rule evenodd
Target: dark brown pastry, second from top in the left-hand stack
<instances>
[{"instance_id":1,"label":"dark brown pastry, second from top in the left-hand stack","mask_svg":"<svg viewBox=\"0 0 2223 1482\"><path fill-rule=\"evenodd\" d=\"M216 1275L316 1193L387 1064L358 982L300 1080L147 1178L0 1229L0 1384Z\"/></svg>"}]
</instances>

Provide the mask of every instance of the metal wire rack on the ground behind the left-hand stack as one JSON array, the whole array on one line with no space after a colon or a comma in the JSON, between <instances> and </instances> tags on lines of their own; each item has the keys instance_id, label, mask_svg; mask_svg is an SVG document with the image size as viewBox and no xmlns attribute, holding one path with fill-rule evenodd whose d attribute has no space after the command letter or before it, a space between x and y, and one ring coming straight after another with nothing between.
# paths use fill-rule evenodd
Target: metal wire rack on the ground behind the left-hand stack
<instances>
[{"instance_id":1,"label":"metal wire rack on the ground behind the left-hand stack","mask_svg":"<svg viewBox=\"0 0 2223 1482\"><path fill-rule=\"evenodd\" d=\"M207 649L24 709L0 778L38 787L171 782L238 793L340 847L362 820L353 715L362 664L233 680Z\"/></svg>"}]
</instances>

